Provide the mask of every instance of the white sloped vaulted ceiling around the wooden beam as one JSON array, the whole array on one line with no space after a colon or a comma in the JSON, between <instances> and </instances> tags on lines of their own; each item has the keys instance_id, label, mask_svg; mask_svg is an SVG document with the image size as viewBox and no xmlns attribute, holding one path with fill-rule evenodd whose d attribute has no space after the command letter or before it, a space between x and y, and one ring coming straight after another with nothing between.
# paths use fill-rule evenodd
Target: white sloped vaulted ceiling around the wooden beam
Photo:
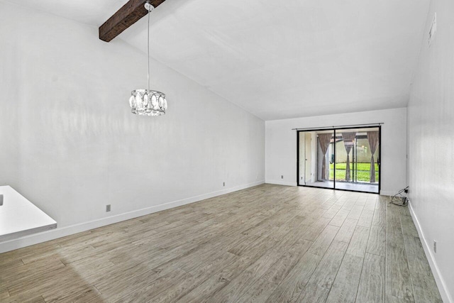
<instances>
[{"instance_id":1,"label":"white sloped vaulted ceiling around the wooden beam","mask_svg":"<svg viewBox=\"0 0 454 303\"><path fill-rule=\"evenodd\" d=\"M127 0L10 2L99 26ZM429 2L167 0L151 55L265 120L404 107ZM145 51L146 29L118 38Z\"/></svg>"}]
</instances>

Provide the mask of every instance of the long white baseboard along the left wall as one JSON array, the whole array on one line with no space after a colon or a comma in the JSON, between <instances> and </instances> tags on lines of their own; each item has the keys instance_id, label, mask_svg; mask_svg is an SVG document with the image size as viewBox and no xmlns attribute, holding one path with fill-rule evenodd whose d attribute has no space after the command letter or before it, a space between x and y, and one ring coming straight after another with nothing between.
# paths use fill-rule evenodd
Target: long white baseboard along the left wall
<instances>
[{"instance_id":1,"label":"long white baseboard along the left wall","mask_svg":"<svg viewBox=\"0 0 454 303\"><path fill-rule=\"evenodd\" d=\"M157 211L163 211L165 209L171 209L173 207L182 206L185 204L191 204L194 202L199 202L204 199L209 199L212 197L220 196L221 194L228 194L231 192L237 192L241 189L246 189L249 187L254 187L260 184L265 183L265 180L260 180L257 182L239 185L237 187L231 187L228 189L222 189L217 192L209 192L208 194L201 194L196 197L190 197L186 199L181 199L173 202L167 202L165 204L150 206L145 209L138 209L135 211L129 211L124 214L118 214L116 216L109 216L102 219L97 219L94 221L84 222L80 224L74 224L71 226L64 226L62 228L52 229L50 231L43 231L42 233L35 233L30 236L24 236L21 238L16 238L9 241L4 241L0 243L0 253L6 253L10 250L15 250L18 248L23 248L26 246L31 246L38 243L43 243L46 241L54 240L56 238L62 238L65 236L70 236L74 233L80 233L82 231L89 231L90 229L98 228L101 226L106 226L121 221L126 221L129 219L138 218L139 216L145 216L148 214L153 214Z\"/></svg>"}]
</instances>

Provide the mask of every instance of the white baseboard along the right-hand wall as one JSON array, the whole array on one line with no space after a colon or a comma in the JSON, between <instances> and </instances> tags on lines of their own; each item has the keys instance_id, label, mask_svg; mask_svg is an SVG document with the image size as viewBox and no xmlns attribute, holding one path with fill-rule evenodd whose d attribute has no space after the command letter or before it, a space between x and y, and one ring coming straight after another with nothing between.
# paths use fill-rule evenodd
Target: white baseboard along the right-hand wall
<instances>
[{"instance_id":1,"label":"white baseboard along the right-hand wall","mask_svg":"<svg viewBox=\"0 0 454 303\"><path fill-rule=\"evenodd\" d=\"M426 238L424 238L424 233L421 229L421 225L419 224L418 217L416 216L413 207L411 207L411 202L409 202L409 210L411 218L413 218L414 225L416 226L416 230L418 231L419 238L421 239L421 244L424 248L424 252L426 253L428 264L431 266L433 277L435 277L435 282L437 283L438 290L440 291L441 299L443 299L443 302L445 303L454 303L453 297L451 297L450 293L448 292L448 287L446 287L445 285L445 280L443 280L443 276L441 275L440 270L438 270L436 260L435 258L433 258L433 253L430 249L431 246L428 245Z\"/></svg>"}]
</instances>

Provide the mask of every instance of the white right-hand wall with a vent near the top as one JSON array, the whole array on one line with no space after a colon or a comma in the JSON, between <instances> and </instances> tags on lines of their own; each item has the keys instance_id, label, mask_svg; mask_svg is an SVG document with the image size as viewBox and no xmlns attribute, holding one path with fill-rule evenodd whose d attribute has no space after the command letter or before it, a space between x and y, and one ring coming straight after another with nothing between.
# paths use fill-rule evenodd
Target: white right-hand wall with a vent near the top
<instances>
[{"instance_id":1,"label":"white right-hand wall with a vent near the top","mask_svg":"<svg viewBox=\"0 0 454 303\"><path fill-rule=\"evenodd\" d=\"M429 48L434 13L437 32ZM410 206L445 302L454 302L453 13L452 0L431 1L408 106Z\"/></svg>"}]
</instances>

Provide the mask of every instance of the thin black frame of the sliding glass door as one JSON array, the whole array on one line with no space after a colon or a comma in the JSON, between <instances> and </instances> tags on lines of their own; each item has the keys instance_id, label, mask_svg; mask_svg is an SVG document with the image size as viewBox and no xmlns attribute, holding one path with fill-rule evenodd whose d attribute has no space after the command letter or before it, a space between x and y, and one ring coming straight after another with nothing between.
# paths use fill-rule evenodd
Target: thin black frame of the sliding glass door
<instances>
[{"instance_id":1,"label":"thin black frame of the sliding glass door","mask_svg":"<svg viewBox=\"0 0 454 303\"><path fill-rule=\"evenodd\" d=\"M336 190L343 190L344 192L362 192L358 190L353 190L353 189L338 189L336 188L336 131L340 131L343 129L355 129L355 128L378 128L378 159L377 159L377 164L378 164L378 193L377 192L365 192L369 194L380 194L380 191L382 189L382 125L378 124L375 126L345 126L345 127L333 127L333 128L308 128L305 129L304 131L300 131L297 129L297 186L302 186L302 187L315 187L315 188L322 188L322 189L336 189ZM333 131L333 136L334 136L334 161L333 161L333 188L331 187L317 187L313 185L306 185L306 184L299 184L299 133L307 133L309 131ZM306 138L304 138L306 140ZM319 143L317 142L317 148L319 148ZM306 163L304 164L306 165ZM304 166L304 172L306 171L306 166ZM306 180L306 179L304 179ZM306 183L306 182L304 182Z\"/></svg>"}]
</instances>

